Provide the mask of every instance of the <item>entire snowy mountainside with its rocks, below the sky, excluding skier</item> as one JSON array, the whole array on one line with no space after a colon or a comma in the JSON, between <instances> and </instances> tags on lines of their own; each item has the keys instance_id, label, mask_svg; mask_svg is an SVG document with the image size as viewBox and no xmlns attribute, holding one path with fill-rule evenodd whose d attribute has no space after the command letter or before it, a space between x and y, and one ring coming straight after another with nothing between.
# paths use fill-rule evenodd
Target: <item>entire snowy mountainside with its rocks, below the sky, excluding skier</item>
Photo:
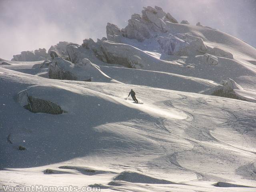
<instances>
[{"instance_id":1,"label":"entire snowy mountainside with its rocks, below the sky, excluding skier","mask_svg":"<svg viewBox=\"0 0 256 192\"><path fill-rule=\"evenodd\" d=\"M255 192L256 50L182 23L147 7L52 60L0 59L0 191Z\"/></svg>"}]
</instances>

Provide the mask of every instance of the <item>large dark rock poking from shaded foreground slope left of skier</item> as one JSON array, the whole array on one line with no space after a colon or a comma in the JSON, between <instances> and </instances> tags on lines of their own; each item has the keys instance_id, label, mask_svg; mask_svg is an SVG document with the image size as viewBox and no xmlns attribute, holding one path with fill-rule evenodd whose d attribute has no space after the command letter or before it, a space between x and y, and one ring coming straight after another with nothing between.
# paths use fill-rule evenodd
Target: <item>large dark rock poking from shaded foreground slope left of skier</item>
<instances>
[{"instance_id":1,"label":"large dark rock poking from shaded foreground slope left of skier","mask_svg":"<svg viewBox=\"0 0 256 192\"><path fill-rule=\"evenodd\" d=\"M62 114L64 112L53 102L28 96L26 90L18 93L18 101L21 106L33 113Z\"/></svg>"}]
</instances>

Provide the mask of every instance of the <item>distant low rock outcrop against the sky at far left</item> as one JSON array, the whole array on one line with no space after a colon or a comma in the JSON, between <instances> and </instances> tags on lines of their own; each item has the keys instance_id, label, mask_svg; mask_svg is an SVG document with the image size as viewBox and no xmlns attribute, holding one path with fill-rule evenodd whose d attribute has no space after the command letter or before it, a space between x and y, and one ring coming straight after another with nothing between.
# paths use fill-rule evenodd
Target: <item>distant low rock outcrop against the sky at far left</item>
<instances>
[{"instance_id":1,"label":"distant low rock outcrop against the sky at far left","mask_svg":"<svg viewBox=\"0 0 256 192\"><path fill-rule=\"evenodd\" d=\"M14 55L12 61L42 61L48 58L46 49L34 51L22 51L19 55Z\"/></svg>"}]
</instances>

